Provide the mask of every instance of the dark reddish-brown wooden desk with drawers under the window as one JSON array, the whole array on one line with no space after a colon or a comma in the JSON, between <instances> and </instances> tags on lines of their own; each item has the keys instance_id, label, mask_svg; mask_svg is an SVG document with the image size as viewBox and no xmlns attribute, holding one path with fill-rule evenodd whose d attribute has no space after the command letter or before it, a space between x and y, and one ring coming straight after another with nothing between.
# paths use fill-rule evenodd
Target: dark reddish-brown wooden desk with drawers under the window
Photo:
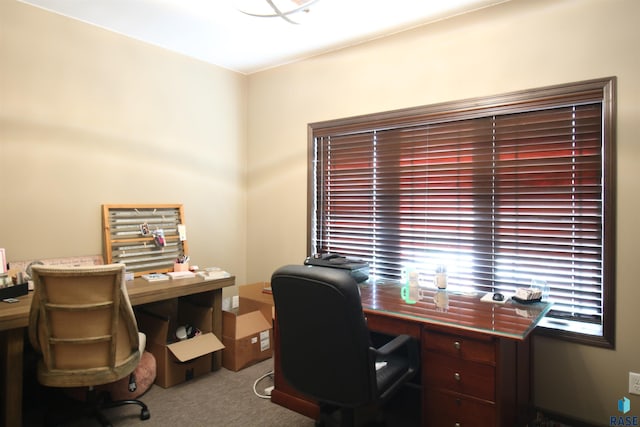
<instances>
[{"instance_id":1,"label":"dark reddish-brown wooden desk with drawers under the window","mask_svg":"<svg viewBox=\"0 0 640 427\"><path fill-rule=\"evenodd\" d=\"M420 341L422 425L526 425L531 415L529 334L550 304L497 304L480 301L482 294L436 290L422 290L420 301L407 304L395 283L365 283L360 291L372 331ZM315 402L282 378L277 330L274 337L271 400L316 418Z\"/></svg>"}]
</instances>

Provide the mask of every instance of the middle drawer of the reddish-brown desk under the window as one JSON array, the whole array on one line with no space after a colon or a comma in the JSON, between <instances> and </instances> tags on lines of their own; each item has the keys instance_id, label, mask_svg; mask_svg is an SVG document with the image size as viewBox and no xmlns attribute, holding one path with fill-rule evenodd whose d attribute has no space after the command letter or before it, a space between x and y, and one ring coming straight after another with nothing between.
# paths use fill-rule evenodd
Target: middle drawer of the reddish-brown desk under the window
<instances>
[{"instance_id":1,"label":"middle drawer of the reddish-brown desk under the window","mask_svg":"<svg viewBox=\"0 0 640 427\"><path fill-rule=\"evenodd\" d=\"M423 375L427 387L450 390L495 402L495 368L482 363L424 352Z\"/></svg>"}]
</instances>

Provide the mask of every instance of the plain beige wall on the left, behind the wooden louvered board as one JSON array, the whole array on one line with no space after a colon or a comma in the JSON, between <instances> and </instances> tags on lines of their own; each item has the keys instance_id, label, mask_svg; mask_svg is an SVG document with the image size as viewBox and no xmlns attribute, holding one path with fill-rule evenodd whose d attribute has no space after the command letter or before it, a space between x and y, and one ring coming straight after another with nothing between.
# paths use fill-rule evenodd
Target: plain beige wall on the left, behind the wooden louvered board
<instances>
[{"instance_id":1,"label":"plain beige wall on the left, behind the wooden louvered board","mask_svg":"<svg viewBox=\"0 0 640 427\"><path fill-rule=\"evenodd\" d=\"M0 0L0 247L102 253L104 203L181 203L193 262L246 279L246 77Z\"/></svg>"}]
</instances>

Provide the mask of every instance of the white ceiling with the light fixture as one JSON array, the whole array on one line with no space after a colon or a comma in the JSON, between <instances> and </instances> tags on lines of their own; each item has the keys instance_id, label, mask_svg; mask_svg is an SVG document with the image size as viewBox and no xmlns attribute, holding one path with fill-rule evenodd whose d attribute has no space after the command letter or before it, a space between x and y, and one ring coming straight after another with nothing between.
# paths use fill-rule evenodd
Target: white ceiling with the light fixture
<instances>
[{"instance_id":1,"label":"white ceiling with the light fixture","mask_svg":"<svg viewBox=\"0 0 640 427\"><path fill-rule=\"evenodd\" d=\"M237 9L253 1L271 11L267 0L21 1L250 74L509 0L317 0L288 15L298 24Z\"/></svg>"}]
</instances>

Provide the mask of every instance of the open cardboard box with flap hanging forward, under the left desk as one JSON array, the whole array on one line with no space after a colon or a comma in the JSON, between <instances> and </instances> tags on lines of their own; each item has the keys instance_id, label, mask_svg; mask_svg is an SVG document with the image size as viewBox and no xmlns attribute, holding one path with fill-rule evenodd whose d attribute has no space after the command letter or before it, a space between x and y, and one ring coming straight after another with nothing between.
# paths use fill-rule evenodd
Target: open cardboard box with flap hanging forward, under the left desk
<instances>
[{"instance_id":1,"label":"open cardboard box with flap hanging forward, under the left desk","mask_svg":"<svg viewBox=\"0 0 640 427\"><path fill-rule=\"evenodd\" d=\"M183 300L137 308L138 328L147 335L147 350L156 358L156 384L167 388L211 372L212 354L224 348L211 332L212 312L211 307ZM201 334L179 341L176 329L186 324Z\"/></svg>"}]
</instances>

